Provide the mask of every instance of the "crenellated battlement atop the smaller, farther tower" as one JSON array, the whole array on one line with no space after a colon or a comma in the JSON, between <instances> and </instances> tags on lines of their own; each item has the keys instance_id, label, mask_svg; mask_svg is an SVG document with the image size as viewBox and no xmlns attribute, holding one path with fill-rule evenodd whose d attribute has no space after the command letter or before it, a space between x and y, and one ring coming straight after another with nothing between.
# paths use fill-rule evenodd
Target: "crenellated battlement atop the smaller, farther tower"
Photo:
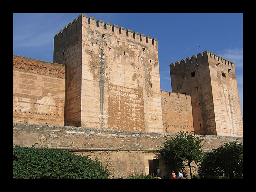
<instances>
[{"instance_id":1,"label":"crenellated battlement atop the smaller, farther tower","mask_svg":"<svg viewBox=\"0 0 256 192\"><path fill-rule=\"evenodd\" d=\"M204 58L213 59L213 60L218 61L219 63L217 63L217 65L220 64L220 63L223 63L225 65L228 65L228 66L232 67L232 68L234 67L233 62L231 62L229 60L226 60L226 59L224 59L224 58L206 50L206 51L203 52L203 54L200 52L200 53L197 54L197 56L193 55L191 58L187 57L186 60L182 59L180 61L176 61L175 63L171 63L170 68L182 67L185 64L187 64L187 65L188 64L196 64L198 66L199 65L198 63L200 61L203 61Z\"/></svg>"}]
</instances>

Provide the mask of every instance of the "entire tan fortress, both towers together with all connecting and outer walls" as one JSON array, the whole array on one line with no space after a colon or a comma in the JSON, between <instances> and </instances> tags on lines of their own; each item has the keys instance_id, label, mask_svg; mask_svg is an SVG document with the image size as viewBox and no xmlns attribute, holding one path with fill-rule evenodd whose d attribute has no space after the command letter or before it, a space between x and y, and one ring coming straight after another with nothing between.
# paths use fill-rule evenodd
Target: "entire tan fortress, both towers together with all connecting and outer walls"
<instances>
[{"instance_id":1,"label":"entire tan fortress, both towers together with all connecting and outer walls","mask_svg":"<svg viewBox=\"0 0 256 192\"><path fill-rule=\"evenodd\" d=\"M54 36L53 62L13 55L13 145L90 155L111 177L159 166L168 178L165 137L204 134L205 152L243 142L234 63L208 51L171 63L173 92L161 91L157 44L81 14Z\"/></svg>"}]
</instances>

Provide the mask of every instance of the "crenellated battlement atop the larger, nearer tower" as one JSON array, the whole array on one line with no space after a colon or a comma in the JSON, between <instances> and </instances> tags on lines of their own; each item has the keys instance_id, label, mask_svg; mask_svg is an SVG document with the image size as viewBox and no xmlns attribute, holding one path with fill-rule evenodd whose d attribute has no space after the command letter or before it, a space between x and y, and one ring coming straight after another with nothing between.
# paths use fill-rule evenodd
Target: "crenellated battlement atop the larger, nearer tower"
<instances>
[{"instance_id":1,"label":"crenellated battlement atop the larger, nearer tower","mask_svg":"<svg viewBox=\"0 0 256 192\"><path fill-rule=\"evenodd\" d=\"M70 28L71 26L77 25L77 21L82 18L85 17L88 19L87 15L85 14L81 14L78 16L77 19L74 19L73 22L70 22L67 26L65 26L63 29L61 29L59 31L59 33L57 33L55 37L62 35L64 32L68 33L67 29ZM140 34L137 31L132 32L131 29L125 29L124 27L118 27L118 25L113 24L111 25L111 23L109 22L104 22L102 20L97 20L94 17L90 17L88 19L88 25L94 25L97 28L99 28L100 30L107 30L107 32L109 33L113 33L113 34L120 34L120 35L124 35L130 38L133 38L136 41L140 41L140 43L143 44L148 44L148 45L156 45L157 44L157 39L156 38L151 38L150 36L145 36L144 34Z\"/></svg>"}]
</instances>

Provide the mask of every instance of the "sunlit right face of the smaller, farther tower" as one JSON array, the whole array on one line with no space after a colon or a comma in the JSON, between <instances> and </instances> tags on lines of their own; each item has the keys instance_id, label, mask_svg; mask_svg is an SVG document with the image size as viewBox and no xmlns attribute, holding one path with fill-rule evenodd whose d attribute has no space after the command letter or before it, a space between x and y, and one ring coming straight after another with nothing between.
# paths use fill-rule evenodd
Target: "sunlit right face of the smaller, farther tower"
<instances>
[{"instance_id":1,"label":"sunlit right face of the smaller, farther tower","mask_svg":"<svg viewBox=\"0 0 256 192\"><path fill-rule=\"evenodd\" d=\"M209 60L218 135L243 137L242 113L235 64L211 52Z\"/></svg>"}]
</instances>

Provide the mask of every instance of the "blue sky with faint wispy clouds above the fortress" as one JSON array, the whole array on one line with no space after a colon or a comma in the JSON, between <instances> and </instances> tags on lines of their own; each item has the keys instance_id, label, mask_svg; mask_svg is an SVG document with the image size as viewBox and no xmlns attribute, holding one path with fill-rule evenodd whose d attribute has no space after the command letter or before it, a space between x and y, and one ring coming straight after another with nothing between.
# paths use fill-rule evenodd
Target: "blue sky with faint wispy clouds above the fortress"
<instances>
[{"instance_id":1,"label":"blue sky with faint wispy clouds above the fortress","mask_svg":"<svg viewBox=\"0 0 256 192\"><path fill-rule=\"evenodd\" d=\"M12 54L53 62L53 37L81 13L13 13ZM84 13L158 41L161 90L170 63L205 50L234 62L243 117L243 13Z\"/></svg>"}]
</instances>

